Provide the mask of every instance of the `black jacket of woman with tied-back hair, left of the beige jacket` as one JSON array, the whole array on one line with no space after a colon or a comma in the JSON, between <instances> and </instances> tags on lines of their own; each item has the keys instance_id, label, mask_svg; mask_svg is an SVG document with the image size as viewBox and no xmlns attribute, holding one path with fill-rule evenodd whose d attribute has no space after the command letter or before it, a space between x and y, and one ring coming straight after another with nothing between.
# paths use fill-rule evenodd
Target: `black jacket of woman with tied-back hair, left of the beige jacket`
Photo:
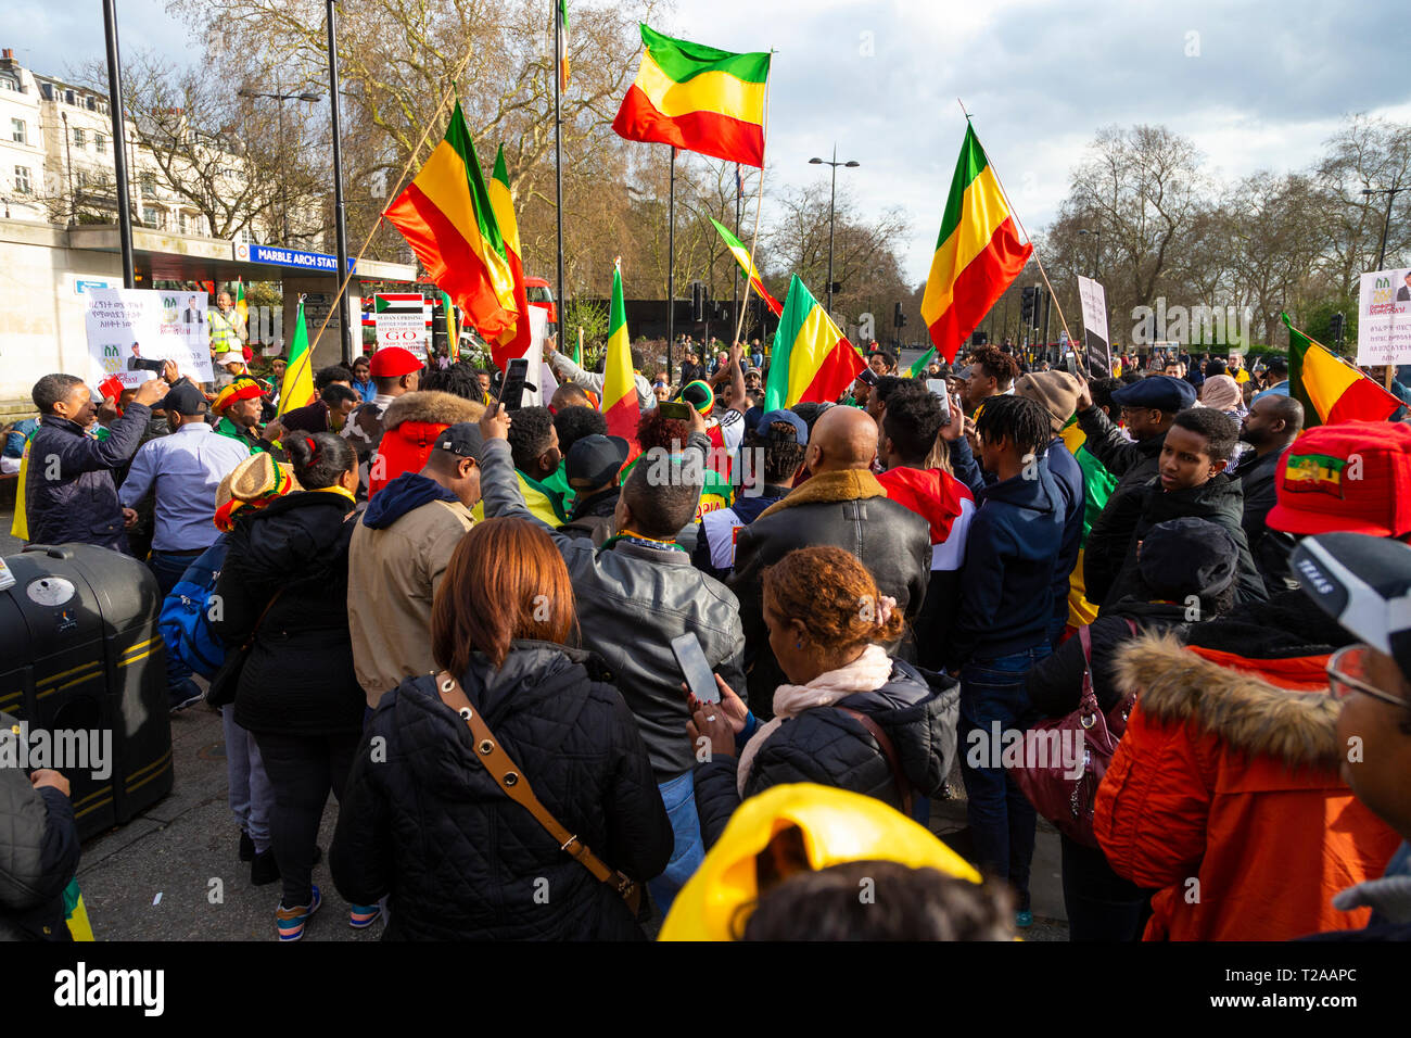
<instances>
[{"instance_id":1,"label":"black jacket of woman with tied-back hair, left of the beige jacket","mask_svg":"<svg viewBox=\"0 0 1411 1038\"><path fill-rule=\"evenodd\" d=\"M251 732L361 732L367 700L353 671L349 634L349 538L353 503L299 491L236 521L216 582L222 619L212 628L244 644L255 631L236 692L236 723Z\"/></svg>"}]
</instances>

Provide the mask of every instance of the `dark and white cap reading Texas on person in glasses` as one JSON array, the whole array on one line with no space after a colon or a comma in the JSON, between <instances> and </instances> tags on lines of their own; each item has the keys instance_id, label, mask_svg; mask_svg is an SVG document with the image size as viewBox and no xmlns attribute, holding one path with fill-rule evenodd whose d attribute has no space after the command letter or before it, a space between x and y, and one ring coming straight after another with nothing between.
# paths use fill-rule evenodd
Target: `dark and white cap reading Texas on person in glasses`
<instances>
[{"instance_id":1,"label":"dark and white cap reading Texas on person in glasses","mask_svg":"<svg viewBox=\"0 0 1411 1038\"><path fill-rule=\"evenodd\" d=\"M1411 548L1390 537L1305 537L1288 559L1298 586L1411 682Z\"/></svg>"}]
</instances>

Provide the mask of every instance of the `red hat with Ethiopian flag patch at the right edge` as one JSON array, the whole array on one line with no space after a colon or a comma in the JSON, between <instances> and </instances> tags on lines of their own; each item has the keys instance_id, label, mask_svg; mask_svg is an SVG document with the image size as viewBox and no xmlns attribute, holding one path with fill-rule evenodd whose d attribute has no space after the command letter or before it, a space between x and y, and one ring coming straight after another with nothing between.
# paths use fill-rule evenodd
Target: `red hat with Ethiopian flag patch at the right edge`
<instances>
[{"instance_id":1,"label":"red hat with Ethiopian flag patch at the right edge","mask_svg":"<svg viewBox=\"0 0 1411 1038\"><path fill-rule=\"evenodd\" d=\"M1411 532L1411 428L1338 422L1308 429L1278 459L1266 523L1287 534Z\"/></svg>"}]
</instances>

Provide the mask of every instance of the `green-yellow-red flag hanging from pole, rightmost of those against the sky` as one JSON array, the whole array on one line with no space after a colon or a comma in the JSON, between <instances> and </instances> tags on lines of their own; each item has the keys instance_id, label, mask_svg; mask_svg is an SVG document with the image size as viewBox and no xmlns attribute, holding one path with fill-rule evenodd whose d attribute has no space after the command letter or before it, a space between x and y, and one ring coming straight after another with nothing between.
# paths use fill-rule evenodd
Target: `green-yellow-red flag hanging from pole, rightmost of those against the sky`
<instances>
[{"instance_id":1,"label":"green-yellow-red flag hanging from pole, rightmost of those against the sky","mask_svg":"<svg viewBox=\"0 0 1411 1038\"><path fill-rule=\"evenodd\" d=\"M1031 244L1020 244L985 148L967 126L921 297L921 319L945 363L955 360L961 345L1019 277L1033 251Z\"/></svg>"}]
</instances>

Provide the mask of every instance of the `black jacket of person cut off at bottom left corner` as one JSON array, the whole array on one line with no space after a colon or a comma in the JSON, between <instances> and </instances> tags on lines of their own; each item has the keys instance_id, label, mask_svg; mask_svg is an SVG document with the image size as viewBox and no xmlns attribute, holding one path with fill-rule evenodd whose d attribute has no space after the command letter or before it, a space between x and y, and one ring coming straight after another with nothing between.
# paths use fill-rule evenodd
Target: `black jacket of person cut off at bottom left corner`
<instances>
[{"instance_id":1,"label":"black jacket of person cut off at bottom left corner","mask_svg":"<svg viewBox=\"0 0 1411 1038\"><path fill-rule=\"evenodd\" d=\"M0 713L0 739L13 739L11 724L14 717ZM68 941L63 888L78 866L69 798L35 789L23 768L0 765L0 941Z\"/></svg>"}]
</instances>

